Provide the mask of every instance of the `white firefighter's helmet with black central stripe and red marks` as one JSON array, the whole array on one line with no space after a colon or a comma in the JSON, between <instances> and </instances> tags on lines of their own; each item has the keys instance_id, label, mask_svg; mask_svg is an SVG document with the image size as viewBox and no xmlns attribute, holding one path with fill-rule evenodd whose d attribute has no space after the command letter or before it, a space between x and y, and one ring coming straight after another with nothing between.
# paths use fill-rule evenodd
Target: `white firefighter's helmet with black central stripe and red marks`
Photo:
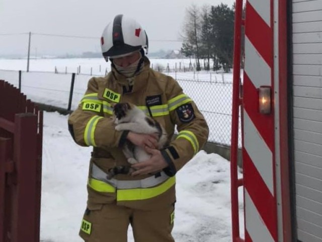
<instances>
[{"instance_id":1,"label":"white firefighter's helmet with black central stripe and red marks","mask_svg":"<svg viewBox=\"0 0 322 242\"><path fill-rule=\"evenodd\" d=\"M108 58L118 58L143 50L147 53L148 39L141 25L132 18L122 14L115 16L104 29L101 37L102 53L106 61Z\"/></svg>"}]
</instances>

